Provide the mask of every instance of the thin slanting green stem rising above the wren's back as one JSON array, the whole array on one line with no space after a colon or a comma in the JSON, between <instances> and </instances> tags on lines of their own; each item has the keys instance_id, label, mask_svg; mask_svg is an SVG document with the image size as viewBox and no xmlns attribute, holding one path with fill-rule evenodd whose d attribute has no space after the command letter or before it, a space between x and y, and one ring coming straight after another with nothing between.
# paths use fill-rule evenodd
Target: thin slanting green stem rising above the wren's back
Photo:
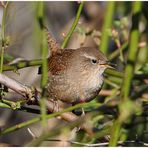
<instances>
[{"instance_id":1,"label":"thin slanting green stem rising above the wren's back","mask_svg":"<svg viewBox=\"0 0 148 148\"><path fill-rule=\"evenodd\" d=\"M80 15L81 15L81 11L82 11L82 9L83 9L83 5L84 5L84 2L81 2L81 4L79 5L78 11L77 11L75 20L74 20L74 22L73 22L73 24L72 24L72 26L71 26L71 29L70 29L70 31L68 32L68 34L66 35L66 37L65 37L65 39L64 39L64 41L63 41L63 43L62 43L62 45L61 45L61 48L62 48L62 49L67 46L67 44L68 44L68 42L69 42L69 40L70 40L70 37L71 37L71 35L73 34L73 32L74 32L74 30L75 30L75 28L76 28L76 26L77 26L77 24L78 24L78 21L79 21Z\"/></svg>"}]
</instances>

